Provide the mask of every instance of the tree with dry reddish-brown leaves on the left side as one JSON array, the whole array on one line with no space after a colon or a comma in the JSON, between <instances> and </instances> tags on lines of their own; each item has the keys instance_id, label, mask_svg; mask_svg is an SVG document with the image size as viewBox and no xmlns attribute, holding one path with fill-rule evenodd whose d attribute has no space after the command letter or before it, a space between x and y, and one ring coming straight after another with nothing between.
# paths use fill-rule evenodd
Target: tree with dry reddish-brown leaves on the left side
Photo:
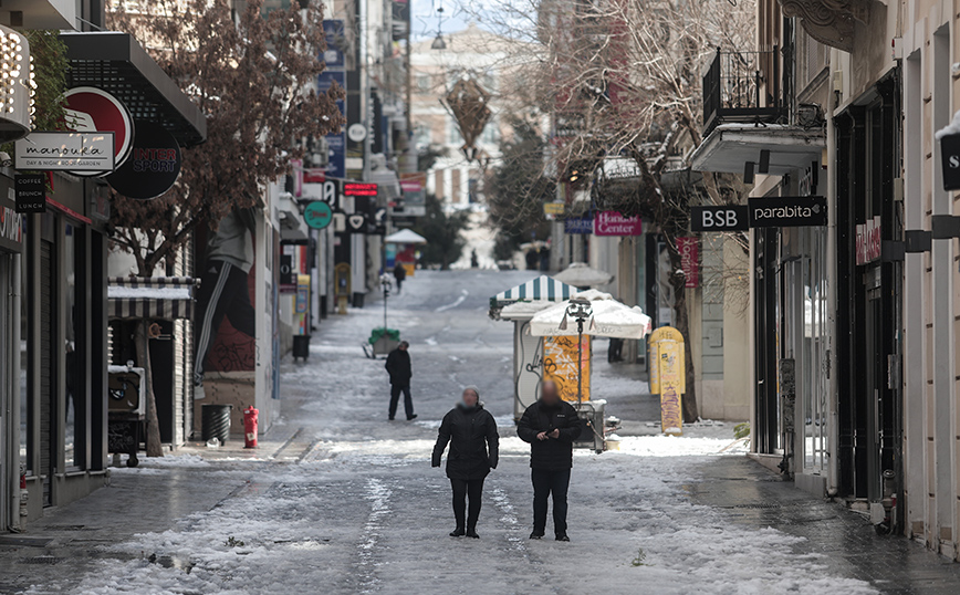
<instances>
[{"instance_id":1,"label":"tree with dry reddish-brown leaves on the left side","mask_svg":"<svg viewBox=\"0 0 960 595\"><path fill-rule=\"evenodd\" d=\"M186 148L176 186L144 201L113 197L112 240L131 252L137 274L150 276L199 226L213 228L231 210L260 206L262 188L303 155L298 140L343 125L335 100L316 94L324 63L322 8L276 9L262 0L231 14L227 0L114 1L113 29L132 33L207 117L207 143ZM146 321L139 333L146 332ZM163 456L147 369L147 456Z\"/></svg>"}]
</instances>

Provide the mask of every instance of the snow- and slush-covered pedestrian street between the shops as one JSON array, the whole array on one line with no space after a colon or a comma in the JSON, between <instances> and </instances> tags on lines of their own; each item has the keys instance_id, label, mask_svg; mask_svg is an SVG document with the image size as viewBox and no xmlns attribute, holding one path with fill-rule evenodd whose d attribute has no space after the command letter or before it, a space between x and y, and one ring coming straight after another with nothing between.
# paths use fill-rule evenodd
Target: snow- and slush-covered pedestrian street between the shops
<instances>
[{"instance_id":1,"label":"snow- and slush-covered pedestrian street between the shops","mask_svg":"<svg viewBox=\"0 0 960 595\"><path fill-rule=\"evenodd\" d=\"M242 441L192 446L114 468L111 487L0 542L0 592L958 592L956 565L876 536L866 520L749 461L734 422L657 436L646 382L634 366L609 366L605 341L593 390L625 420L620 451L575 452L570 543L528 540L512 325L487 309L533 274L418 271L390 299L389 324L410 342L410 422L387 421L384 362L361 349L382 302L324 321L310 359L284 364L281 422L255 452ZM484 486L481 539L455 539L450 486L429 458L440 419L474 384L497 417L501 459Z\"/></svg>"}]
</instances>

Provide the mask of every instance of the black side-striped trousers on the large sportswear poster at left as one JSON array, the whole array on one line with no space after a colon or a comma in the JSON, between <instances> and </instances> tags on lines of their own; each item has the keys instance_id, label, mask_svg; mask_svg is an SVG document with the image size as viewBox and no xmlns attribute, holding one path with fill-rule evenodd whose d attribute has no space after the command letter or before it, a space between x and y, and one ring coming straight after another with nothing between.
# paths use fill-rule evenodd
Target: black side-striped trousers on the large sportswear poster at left
<instances>
[{"instance_id":1,"label":"black side-striped trousers on the large sportswear poster at left","mask_svg":"<svg viewBox=\"0 0 960 595\"><path fill-rule=\"evenodd\" d=\"M197 312L194 322L194 341L197 355L194 364L194 382L204 382L207 356L220 332L223 316L247 336L257 336L257 313L250 304L250 290L247 273L242 269L223 262L208 260L197 295Z\"/></svg>"}]
</instances>

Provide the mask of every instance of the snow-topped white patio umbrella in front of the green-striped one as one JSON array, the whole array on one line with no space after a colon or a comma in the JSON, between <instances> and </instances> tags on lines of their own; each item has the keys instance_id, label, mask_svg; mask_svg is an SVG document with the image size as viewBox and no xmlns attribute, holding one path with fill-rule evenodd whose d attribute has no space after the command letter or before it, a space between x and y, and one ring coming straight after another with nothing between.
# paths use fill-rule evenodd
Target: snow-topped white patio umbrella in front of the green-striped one
<instances>
[{"instance_id":1,"label":"snow-topped white patio umbrella in front of the green-striped one","mask_svg":"<svg viewBox=\"0 0 960 595\"><path fill-rule=\"evenodd\" d=\"M609 293L596 290L582 291L571 300L587 300L591 314L584 324L583 334L620 338L644 338L650 332L650 317L638 306L628 306L613 299ZM567 310L571 300L560 302L533 315L530 334L533 336L575 336L577 325L570 320Z\"/></svg>"}]
</instances>

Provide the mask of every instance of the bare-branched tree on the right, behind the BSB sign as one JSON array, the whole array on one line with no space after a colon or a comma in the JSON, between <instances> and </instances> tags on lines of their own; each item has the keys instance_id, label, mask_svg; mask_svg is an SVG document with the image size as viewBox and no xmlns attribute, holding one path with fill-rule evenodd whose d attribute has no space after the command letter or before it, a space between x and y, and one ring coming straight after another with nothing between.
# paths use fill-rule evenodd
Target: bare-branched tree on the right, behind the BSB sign
<instances>
[{"instance_id":1,"label":"bare-branched tree on the right, behind the BSB sign","mask_svg":"<svg viewBox=\"0 0 960 595\"><path fill-rule=\"evenodd\" d=\"M677 238L689 233L691 205L738 201L742 187L710 174L676 185L667 175L688 170L702 139L701 70L709 56L718 46L752 45L753 2L504 1L477 18L525 42L512 46L525 52L512 56L528 81L518 101L532 91L535 107L552 115L545 173L566 196L639 215L661 232L675 271L675 324L689 337ZM629 175L609 175L611 159L632 164ZM747 249L745 238L731 238ZM698 418L690 347L687 341L686 421Z\"/></svg>"}]
</instances>

